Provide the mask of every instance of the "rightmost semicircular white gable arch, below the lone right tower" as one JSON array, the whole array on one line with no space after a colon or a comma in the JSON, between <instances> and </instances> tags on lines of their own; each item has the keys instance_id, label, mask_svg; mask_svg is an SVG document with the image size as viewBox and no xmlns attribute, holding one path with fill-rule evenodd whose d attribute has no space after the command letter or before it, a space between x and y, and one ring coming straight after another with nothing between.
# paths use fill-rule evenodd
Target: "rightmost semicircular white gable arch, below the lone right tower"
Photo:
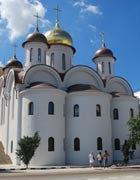
<instances>
[{"instance_id":1,"label":"rightmost semicircular white gable arch, below the lone right tower","mask_svg":"<svg viewBox=\"0 0 140 180\"><path fill-rule=\"evenodd\" d=\"M111 92L120 92L124 94L128 94L130 96L133 95L133 90L130 84L123 78L113 77L106 84L106 91Z\"/></svg>"}]
</instances>

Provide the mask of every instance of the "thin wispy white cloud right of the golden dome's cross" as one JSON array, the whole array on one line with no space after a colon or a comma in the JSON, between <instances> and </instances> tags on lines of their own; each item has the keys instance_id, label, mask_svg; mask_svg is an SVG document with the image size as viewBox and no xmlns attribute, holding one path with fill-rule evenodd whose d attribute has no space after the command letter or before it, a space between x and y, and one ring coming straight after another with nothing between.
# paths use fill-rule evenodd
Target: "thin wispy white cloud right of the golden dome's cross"
<instances>
[{"instance_id":1,"label":"thin wispy white cloud right of the golden dome's cross","mask_svg":"<svg viewBox=\"0 0 140 180\"><path fill-rule=\"evenodd\" d=\"M77 1L73 4L73 6L80 6L81 10L80 13L90 12L93 14L102 15L102 12L99 10L98 6L86 4L84 0Z\"/></svg>"}]
</instances>

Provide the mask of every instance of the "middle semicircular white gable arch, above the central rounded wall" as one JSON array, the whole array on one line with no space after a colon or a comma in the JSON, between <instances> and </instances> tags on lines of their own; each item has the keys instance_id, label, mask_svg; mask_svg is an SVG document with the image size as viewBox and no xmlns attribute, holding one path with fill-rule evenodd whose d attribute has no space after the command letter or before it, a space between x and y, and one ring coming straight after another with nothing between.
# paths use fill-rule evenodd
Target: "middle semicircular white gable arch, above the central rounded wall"
<instances>
[{"instance_id":1,"label":"middle semicircular white gable arch, above the central rounded wall","mask_svg":"<svg viewBox=\"0 0 140 180\"><path fill-rule=\"evenodd\" d=\"M90 84L101 90L104 88L101 77L87 66L75 66L67 71L64 86L69 87L75 84Z\"/></svg>"}]
</instances>

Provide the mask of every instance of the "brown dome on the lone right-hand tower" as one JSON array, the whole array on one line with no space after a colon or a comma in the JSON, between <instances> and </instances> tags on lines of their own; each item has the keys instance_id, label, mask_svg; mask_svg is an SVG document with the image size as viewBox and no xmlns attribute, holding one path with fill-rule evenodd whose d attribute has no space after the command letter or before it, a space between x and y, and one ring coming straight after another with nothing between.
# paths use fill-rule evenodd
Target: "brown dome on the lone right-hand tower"
<instances>
[{"instance_id":1,"label":"brown dome on the lone right-hand tower","mask_svg":"<svg viewBox=\"0 0 140 180\"><path fill-rule=\"evenodd\" d=\"M103 43L102 47L96 51L93 60L95 60L98 57L112 57L116 60L116 58L113 55L113 52L110 49L106 48L105 43Z\"/></svg>"}]
</instances>

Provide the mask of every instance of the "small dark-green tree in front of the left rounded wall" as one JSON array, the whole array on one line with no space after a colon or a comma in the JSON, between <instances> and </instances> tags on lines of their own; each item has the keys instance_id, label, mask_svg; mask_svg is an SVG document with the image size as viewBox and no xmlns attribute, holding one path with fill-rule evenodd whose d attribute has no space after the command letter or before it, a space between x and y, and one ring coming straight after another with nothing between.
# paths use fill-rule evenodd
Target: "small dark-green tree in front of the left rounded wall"
<instances>
[{"instance_id":1,"label":"small dark-green tree in front of the left rounded wall","mask_svg":"<svg viewBox=\"0 0 140 180\"><path fill-rule=\"evenodd\" d=\"M16 155L26 165L26 169L28 169L29 162L34 156L40 140L39 133L36 132L33 137L24 136L18 142L19 149L16 150Z\"/></svg>"}]
</instances>

